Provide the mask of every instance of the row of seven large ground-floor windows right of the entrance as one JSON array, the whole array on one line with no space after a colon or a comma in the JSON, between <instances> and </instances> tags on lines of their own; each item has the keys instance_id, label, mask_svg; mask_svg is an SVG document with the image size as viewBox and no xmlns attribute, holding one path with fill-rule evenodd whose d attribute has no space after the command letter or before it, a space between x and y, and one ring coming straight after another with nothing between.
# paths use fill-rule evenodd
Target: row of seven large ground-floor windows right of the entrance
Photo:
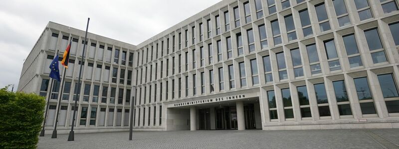
<instances>
[{"instance_id":1,"label":"row of seven large ground-floor windows right of the entrance","mask_svg":"<svg viewBox=\"0 0 399 149\"><path fill-rule=\"evenodd\" d=\"M393 74L379 74L378 79L380 82L381 90L385 99L385 103L387 106L388 113L399 113L399 95L398 95L398 87L393 78ZM373 98L373 92L370 90L368 78L366 77L358 77L354 78L354 83L356 87L356 94L359 99L360 108L362 114L377 114L375 107L375 99ZM331 116L331 111L333 107L331 107L332 99L328 99L328 95L326 92L325 83L316 83L313 84L317 107L319 111L319 116ZM310 102L309 102L309 94L308 88L310 86L297 86L296 90L298 93L299 100L299 108L301 112L301 117L312 117ZM352 115L353 107L352 103L348 97L348 91L346 89L345 80L337 80L333 81L333 88L335 93L335 98L337 102L337 107L340 116L344 115ZM291 99L290 89L293 88L282 88L281 89L281 99L282 106L277 105L278 99L276 99L275 90L267 91L268 105L269 105L269 114L270 119L278 119L278 115L284 116L285 119L294 118L293 112L293 99ZM316 104L316 103L312 103ZM278 109L283 108L284 113L279 113Z\"/></svg>"}]
</instances>

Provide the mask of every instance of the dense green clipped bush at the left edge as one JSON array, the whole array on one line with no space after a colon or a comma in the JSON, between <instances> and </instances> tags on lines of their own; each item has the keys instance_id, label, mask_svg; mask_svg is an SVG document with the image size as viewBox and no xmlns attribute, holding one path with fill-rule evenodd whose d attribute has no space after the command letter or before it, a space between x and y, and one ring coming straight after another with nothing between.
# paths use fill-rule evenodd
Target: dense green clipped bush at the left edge
<instances>
[{"instance_id":1,"label":"dense green clipped bush at the left edge","mask_svg":"<svg viewBox=\"0 0 399 149\"><path fill-rule=\"evenodd\" d=\"M44 120L44 97L0 89L0 149L35 149Z\"/></svg>"}]
</instances>

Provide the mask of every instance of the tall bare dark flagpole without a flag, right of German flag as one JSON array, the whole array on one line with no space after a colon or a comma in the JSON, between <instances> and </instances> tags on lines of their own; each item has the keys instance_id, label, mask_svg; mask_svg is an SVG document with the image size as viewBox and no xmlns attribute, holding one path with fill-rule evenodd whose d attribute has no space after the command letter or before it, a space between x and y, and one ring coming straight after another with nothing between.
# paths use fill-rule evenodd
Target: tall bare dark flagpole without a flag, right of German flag
<instances>
[{"instance_id":1,"label":"tall bare dark flagpole without a flag, right of German flag","mask_svg":"<svg viewBox=\"0 0 399 149\"><path fill-rule=\"evenodd\" d=\"M80 63L80 69L79 69L79 77L78 77L78 87L79 87L79 91L77 92L77 94L76 94L76 97L75 97L75 105L74 105L74 108L73 108L73 117L72 117L72 127L71 127L71 131L69 132L69 136L68 136L68 141L74 141L75 140L75 133L73 132L73 126L74 126L74 124L75 124L75 115L76 115L76 104L77 104L77 102L78 102L78 99L79 99L79 94L80 94L80 76L81 76L81 74L82 74L82 66L84 65L84 50L85 50L85 48L86 48L86 40L87 40L87 29L89 29L89 21L90 21L90 18L87 18L87 26L86 26L86 34L85 34L85 36L84 36L84 43L83 43L83 50L82 50L82 63ZM76 86L75 86L76 87ZM76 99L77 98L77 99Z\"/></svg>"}]
</instances>

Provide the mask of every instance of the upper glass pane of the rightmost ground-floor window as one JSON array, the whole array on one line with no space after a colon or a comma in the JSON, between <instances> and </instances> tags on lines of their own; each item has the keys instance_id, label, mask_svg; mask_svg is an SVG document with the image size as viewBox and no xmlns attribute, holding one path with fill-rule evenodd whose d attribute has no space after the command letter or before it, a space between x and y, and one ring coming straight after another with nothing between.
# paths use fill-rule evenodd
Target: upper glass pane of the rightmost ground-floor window
<instances>
[{"instance_id":1,"label":"upper glass pane of the rightmost ground-floor window","mask_svg":"<svg viewBox=\"0 0 399 149\"><path fill-rule=\"evenodd\" d=\"M378 80L380 82L384 98L399 97L398 88L395 84L393 74L380 74L378 75Z\"/></svg>"}]
</instances>

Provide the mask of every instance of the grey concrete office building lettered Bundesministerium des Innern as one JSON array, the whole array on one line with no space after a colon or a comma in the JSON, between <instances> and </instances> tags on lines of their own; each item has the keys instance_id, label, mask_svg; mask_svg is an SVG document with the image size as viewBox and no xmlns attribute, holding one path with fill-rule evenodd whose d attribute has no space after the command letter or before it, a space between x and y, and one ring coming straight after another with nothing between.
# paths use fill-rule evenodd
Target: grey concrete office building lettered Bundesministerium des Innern
<instances>
[{"instance_id":1,"label":"grey concrete office building lettered Bundesministerium des Innern","mask_svg":"<svg viewBox=\"0 0 399 149\"><path fill-rule=\"evenodd\" d=\"M51 98L46 129L58 96L70 129L83 39L49 22L25 60L18 90ZM399 128L398 46L398 0L222 0L139 45L89 33L76 132L127 130L130 112L148 131Z\"/></svg>"}]
</instances>

